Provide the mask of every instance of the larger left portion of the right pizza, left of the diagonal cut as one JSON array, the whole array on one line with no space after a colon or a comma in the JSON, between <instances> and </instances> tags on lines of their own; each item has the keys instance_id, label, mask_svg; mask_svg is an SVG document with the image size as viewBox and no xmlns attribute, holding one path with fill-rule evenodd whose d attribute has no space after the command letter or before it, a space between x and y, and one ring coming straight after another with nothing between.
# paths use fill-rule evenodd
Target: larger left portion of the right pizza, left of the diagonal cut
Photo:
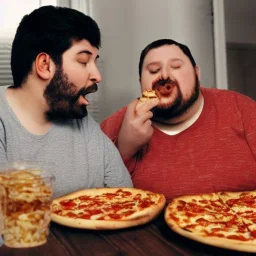
<instances>
[{"instance_id":1,"label":"larger left portion of the right pizza, left of the diagonal cut","mask_svg":"<svg viewBox=\"0 0 256 256\"><path fill-rule=\"evenodd\" d=\"M215 193L175 198L166 208L165 220L173 231L190 239L256 251L247 225Z\"/></svg>"}]
</instances>

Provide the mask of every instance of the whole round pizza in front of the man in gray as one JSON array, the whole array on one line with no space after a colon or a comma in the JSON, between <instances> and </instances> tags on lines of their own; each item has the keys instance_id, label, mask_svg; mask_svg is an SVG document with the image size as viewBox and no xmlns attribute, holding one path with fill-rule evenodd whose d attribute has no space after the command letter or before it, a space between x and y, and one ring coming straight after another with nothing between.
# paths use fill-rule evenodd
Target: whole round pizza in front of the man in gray
<instances>
[{"instance_id":1,"label":"whole round pizza in front of the man in gray","mask_svg":"<svg viewBox=\"0 0 256 256\"><path fill-rule=\"evenodd\" d=\"M163 209L165 197L135 188L93 188L53 200L52 220L84 229L119 229L141 225Z\"/></svg>"}]
</instances>

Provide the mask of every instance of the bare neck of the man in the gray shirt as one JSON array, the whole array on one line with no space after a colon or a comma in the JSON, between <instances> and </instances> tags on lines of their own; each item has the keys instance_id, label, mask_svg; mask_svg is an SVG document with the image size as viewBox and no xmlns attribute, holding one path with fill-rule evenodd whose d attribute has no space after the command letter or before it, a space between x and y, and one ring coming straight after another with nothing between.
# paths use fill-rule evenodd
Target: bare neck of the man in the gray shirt
<instances>
[{"instance_id":1,"label":"bare neck of the man in the gray shirt","mask_svg":"<svg viewBox=\"0 0 256 256\"><path fill-rule=\"evenodd\" d=\"M47 105L42 88L26 83L19 88L8 88L6 100L20 123L32 134L45 134L51 123L45 117Z\"/></svg>"}]
</instances>

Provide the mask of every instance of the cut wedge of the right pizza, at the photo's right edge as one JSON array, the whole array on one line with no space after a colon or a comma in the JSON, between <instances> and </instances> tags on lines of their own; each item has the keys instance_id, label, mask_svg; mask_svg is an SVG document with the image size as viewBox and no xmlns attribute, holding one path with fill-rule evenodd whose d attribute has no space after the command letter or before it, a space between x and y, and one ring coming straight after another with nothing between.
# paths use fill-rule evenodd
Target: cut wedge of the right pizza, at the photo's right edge
<instances>
[{"instance_id":1,"label":"cut wedge of the right pizza, at the photo's right edge","mask_svg":"<svg viewBox=\"0 0 256 256\"><path fill-rule=\"evenodd\" d=\"M220 199L247 225L256 238L256 191L219 192Z\"/></svg>"}]
</instances>

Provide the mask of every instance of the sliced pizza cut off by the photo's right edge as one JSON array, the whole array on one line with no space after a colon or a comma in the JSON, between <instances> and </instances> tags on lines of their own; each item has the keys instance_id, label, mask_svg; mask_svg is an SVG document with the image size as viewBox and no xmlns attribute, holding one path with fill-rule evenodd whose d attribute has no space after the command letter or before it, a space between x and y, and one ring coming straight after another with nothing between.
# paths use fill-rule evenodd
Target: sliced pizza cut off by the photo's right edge
<instances>
[{"instance_id":1,"label":"sliced pizza cut off by the photo's right edge","mask_svg":"<svg viewBox=\"0 0 256 256\"><path fill-rule=\"evenodd\" d=\"M181 196L168 204L165 220L187 238L256 252L256 191Z\"/></svg>"}]
</instances>

